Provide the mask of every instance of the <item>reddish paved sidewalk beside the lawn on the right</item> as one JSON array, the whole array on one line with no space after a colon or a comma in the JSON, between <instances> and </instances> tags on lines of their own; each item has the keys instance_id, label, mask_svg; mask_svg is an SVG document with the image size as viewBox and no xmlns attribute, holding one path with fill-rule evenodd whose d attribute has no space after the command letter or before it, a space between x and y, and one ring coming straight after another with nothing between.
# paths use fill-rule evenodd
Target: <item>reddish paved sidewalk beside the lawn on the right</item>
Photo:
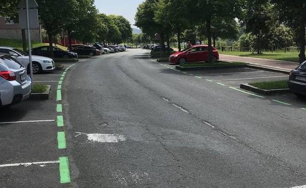
<instances>
[{"instance_id":1,"label":"reddish paved sidewalk beside the lawn on the right","mask_svg":"<svg viewBox=\"0 0 306 188\"><path fill-rule=\"evenodd\" d=\"M245 62L245 63L250 63L250 65L248 65L249 67L282 72L287 74L299 65L299 63L295 62L284 62L279 60L240 57L240 56L232 56L224 54L220 54L220 61Z\"/></svg>"}]
</instances>

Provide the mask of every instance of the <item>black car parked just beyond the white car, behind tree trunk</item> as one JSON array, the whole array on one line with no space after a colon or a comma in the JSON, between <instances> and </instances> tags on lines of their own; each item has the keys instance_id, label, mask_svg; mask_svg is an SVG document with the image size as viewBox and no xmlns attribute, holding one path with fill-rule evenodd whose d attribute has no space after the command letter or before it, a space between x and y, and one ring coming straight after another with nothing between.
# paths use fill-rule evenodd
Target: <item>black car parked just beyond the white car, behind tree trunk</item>
<instances>
[{"instance_id":1,"label":"black car parked just beyond the white car, behind tree trunk","mask_svg":"<svg viewBox=\"0 0 306 188\"><path fill-rule=\"evenodd\" d=\"M59 47L53 46L53 53L54 58L65 58L65 59L77 59L78 55L77 53L71 52L71 51L64 51L60 49ZM50 46L40 46L37 48L32 49L32 54L37 56L44 56L44 57L50 57Z\"/></svg>"}]
</instances>

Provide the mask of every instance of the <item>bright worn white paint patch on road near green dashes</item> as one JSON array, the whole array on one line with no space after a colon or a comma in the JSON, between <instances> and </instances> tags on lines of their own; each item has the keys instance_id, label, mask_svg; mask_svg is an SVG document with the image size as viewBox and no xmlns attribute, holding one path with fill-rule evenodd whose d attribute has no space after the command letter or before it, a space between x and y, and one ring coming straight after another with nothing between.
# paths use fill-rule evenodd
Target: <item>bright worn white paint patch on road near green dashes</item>
<instances>
[{"instance_id":1,"label":"bright worn white paint patch on road near green dashes","mask_svg":"<svg viewBox=\"0 0 306 188\"><path fill-rule=\"evenodd\" d=\"M99 142L99 143L117 143L125 141L126 138L121 134L87 134L83 132L76 132L78 133L77 136L80 134L85 134L87 136L87 139L92 142Z\"/></svg>"}]
</instances>

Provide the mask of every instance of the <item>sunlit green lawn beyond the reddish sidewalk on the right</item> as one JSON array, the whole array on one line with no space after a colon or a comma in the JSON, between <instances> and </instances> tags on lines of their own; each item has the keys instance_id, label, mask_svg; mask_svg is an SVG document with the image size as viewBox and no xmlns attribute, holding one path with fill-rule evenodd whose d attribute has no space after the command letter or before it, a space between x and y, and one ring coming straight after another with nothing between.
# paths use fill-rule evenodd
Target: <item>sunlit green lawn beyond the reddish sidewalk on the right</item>
<instances>
[{"instance_id":1,"label":"sunlit green lawn beyond the reddish sidewalk on the right","mask_svg":"<svg viewBox=\"0 0 306 188\"><path fill-rule=\"evenodd\" d=\"M264 58L271 60L281 60L288 62L299 62L299 52L263 52L263 54L255 54L252 52L237 52L237 51L219 51L220 54L252 57L252 58Z\"/></svg>"}]
</instances>

